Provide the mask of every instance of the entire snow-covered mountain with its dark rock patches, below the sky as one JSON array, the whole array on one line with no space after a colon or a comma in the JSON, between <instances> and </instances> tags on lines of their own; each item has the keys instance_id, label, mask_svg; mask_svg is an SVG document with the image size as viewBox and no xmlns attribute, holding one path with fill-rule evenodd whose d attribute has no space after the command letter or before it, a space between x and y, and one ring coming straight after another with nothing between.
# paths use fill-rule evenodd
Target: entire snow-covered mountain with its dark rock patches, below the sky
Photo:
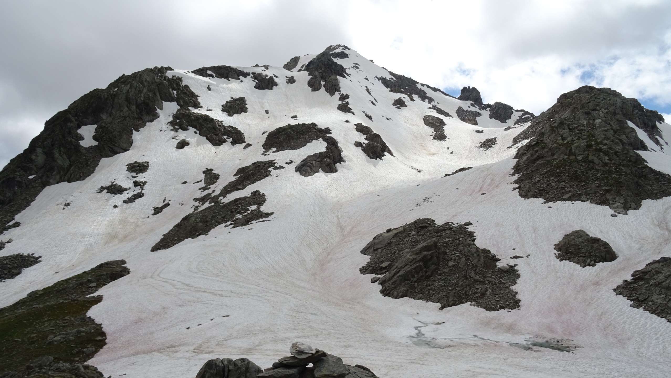
<instances>
[{"instance_id":1,"label":"entire snow-covered mountain with its dark rock patches, below the sky","mask_svg":"<svg viewBox=\"0 0 671 378\"><path fill-rule=\"evenodd\" d=\"M340 45L122 75L0 173L0 370L301 340L378 377L666 377L669 138L610 89L535 117Z\"/></svg>"}]
</instances>

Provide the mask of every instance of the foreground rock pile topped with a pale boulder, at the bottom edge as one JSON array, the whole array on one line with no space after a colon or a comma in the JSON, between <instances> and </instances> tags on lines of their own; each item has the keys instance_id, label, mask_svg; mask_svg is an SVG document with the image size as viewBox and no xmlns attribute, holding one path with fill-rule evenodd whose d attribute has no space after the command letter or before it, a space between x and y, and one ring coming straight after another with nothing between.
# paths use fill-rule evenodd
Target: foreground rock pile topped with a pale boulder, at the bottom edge
<instances>
[{"instance_id":1,"label":"foreground rock pile topped with a pale boulder, at the bottom edge","mask_svg":"<svg viewBox=\"0 0 671 378\"><path fill-rule=\"evenodd\" d=\"M268 369L248 359L212 359L196 378L377 378L363 365L345 365L340 357L303 342L291 344L289 352L291 356L282 357Z\"/></svg>"}]
</instances>

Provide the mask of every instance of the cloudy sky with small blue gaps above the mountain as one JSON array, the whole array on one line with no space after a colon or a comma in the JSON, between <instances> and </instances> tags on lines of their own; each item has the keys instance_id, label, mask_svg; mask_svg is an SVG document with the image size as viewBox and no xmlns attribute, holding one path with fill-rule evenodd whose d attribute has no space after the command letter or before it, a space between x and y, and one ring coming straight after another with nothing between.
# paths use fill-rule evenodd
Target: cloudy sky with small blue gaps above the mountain
<instances>
[{"instance_id":1,"label":"cloudy sky with small blue gaps above the mountain","mask_svg":"<svg viewBox=\"0 0 671 378\"><path fill-rule=\"evenodd\" d=\"M536 114L586 84L671 113L668 0L0 0L0 167L122 73L281 66L330 44Z\"/></svg>"}]
</instances>

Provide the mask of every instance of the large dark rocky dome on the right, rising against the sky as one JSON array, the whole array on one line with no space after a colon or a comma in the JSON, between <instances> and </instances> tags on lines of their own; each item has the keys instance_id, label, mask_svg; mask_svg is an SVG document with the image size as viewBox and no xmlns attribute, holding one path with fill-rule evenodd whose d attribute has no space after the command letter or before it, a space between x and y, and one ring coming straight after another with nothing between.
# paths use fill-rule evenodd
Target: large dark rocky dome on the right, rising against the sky
<instances>
[{"instance_id":1,"label":"large dark rocky dome on the right, rising against the sky","mask_svg":"<svg viewBox=\"0 0 671 378\"><path fill-rule=\"evenodd\" d=\"M657 140L662 120L609 88L564 93L531 122L535 136L515 154L520 197L590 201L627 214L643 199L670 196L671 176L646 165L636 151L648 148L627 124Z\"/></svg>"}]
</instances>

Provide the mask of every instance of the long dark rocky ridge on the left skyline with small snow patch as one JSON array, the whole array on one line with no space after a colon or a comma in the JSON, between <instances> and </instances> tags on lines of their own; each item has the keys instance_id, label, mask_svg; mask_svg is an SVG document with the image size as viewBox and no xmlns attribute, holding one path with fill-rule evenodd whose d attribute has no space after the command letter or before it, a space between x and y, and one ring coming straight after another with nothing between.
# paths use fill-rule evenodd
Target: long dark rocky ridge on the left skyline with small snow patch
<instances>
[{"instance_id":1,"label":"long dark rocky ridge on the left skyline with small snow patch","mask_svg":"<svg viewBox=\"0 0 671 378\"><path fill-rule=\"evenodd\" d=\"M122 75L105 89L94 89L44 124L28 148L0 172L0 228L13 220L49 185L80 181L95 171L101 158L130 150L133 132L158 118L164 102L201 107L182 78L154 67ZM93 140L79 142L82 126L97 125ZM32 179L28 177L34 176Z\"/></svg>"}]
</instances>

